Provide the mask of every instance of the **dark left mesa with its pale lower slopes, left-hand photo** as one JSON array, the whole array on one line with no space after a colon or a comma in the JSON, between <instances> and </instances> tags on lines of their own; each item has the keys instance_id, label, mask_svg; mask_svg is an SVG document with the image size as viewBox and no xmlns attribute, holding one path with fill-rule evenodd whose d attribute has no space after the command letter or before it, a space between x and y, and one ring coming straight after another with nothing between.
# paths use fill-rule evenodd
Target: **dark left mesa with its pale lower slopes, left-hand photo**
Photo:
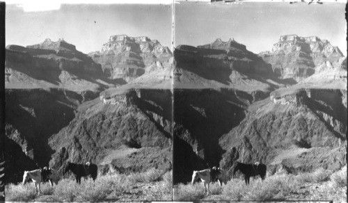
<instances>
[{"instance_id":1,"label":"dark left mesa with its pale lower slopes, left-hand photo","mask_svg":"<svg viewBox=\"0 0 348 203\"><path fill-rule=\"evenodd\" d=\"M99 64L64 40L6 47L6 88L65 88L94 92L113 86Z\"/></svg>"}]
</instances>

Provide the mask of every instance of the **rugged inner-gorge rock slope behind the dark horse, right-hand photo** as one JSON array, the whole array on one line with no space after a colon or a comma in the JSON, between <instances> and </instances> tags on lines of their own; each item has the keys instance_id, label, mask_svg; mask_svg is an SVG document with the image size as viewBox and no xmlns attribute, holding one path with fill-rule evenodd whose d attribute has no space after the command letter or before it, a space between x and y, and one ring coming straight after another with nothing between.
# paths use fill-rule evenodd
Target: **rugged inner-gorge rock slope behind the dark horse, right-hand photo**
<instances>
[{"instance_id":1,"label":"rugged inner-gorge rock slope behind the dark horse, right-hand photo","mask_svg":"<svg viewBox=\"0 0 348 203\"><path fill-rule=\"evenodd\" d=\"M282 167L292 173L339 170L347 147L344 95L341 90L276 90L270 99L251 104L244 120L219 143L227 150L236 147L238 161L265 163L271 173ZM223 157L221 167L230 170L229 156Z\"/></svg>"}]
</instances>

